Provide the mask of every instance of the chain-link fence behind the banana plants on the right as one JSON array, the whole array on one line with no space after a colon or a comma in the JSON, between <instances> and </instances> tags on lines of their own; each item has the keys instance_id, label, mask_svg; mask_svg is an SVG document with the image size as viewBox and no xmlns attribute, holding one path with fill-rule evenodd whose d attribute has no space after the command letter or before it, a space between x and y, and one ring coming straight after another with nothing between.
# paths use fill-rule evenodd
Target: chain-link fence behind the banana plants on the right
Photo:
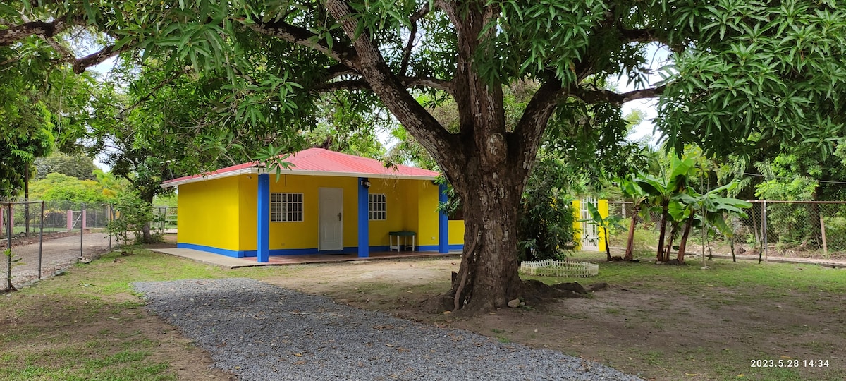
<instances>
[{"instance_id":1,"label":"chain-link fence behind the banana plants on the right","mask_svg":"<svg viewBox=\"0 0 846 381\"><path fill-rule=\"evenodd\" d=\"M743 218L726 220L733 230L729 239L701 229L691 233L689 252L700 251L780 257L825 257L846 259L846 202L751 201ZM628 238L632 202L608 202L608 213L624 218L625 229L613 229L612 246L624 247ZM635 250L656 249L660 213L640 213L634 231ZM667 234L671 228L668 225Z\"/></svg>"}]
</instances>

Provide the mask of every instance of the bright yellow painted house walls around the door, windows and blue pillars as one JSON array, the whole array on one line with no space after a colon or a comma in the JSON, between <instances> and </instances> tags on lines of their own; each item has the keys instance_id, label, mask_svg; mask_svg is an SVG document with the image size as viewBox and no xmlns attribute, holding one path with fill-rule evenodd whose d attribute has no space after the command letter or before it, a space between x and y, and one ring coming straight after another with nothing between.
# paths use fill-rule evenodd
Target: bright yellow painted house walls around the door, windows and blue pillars
<instances>
[{"instance_id":1,"label":"bright yellow painted house walls around the door, windows and blue pillars","mask_svg":"<svg viewBox=\"0 0 846 381\"><path fill-rule=\"evenodd\" d=\"M178 241L232 251L256 250L257 175L179 185ZM358 246L358 178L270 175L272 193L302 193L304 220L271 222L270 250L318 246L318 190L343 190L343 246ZM437 185L429 180L371 179L371 193L387 196L387 220L370 221L370 245L387 246L387 232L417 233L418 246L437 246ZM451 245L464 241L464 222L450 221Z\"/></svg>"}]
</instances>

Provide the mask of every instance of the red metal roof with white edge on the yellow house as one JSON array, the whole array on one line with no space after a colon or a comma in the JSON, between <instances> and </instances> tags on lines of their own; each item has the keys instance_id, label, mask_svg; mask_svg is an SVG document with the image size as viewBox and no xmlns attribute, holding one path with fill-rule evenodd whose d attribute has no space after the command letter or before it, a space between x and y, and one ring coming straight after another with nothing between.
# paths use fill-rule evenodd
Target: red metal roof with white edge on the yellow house
<instances>
[{"instance_id":1,"label":"red metal roof with white edge on the yellow house","mask_svg":"<svg viewBox=\"0 0 846 381\"><path fill-rule=\"evenodd\" d=\"M285 161L291 163L291 168L283 169L283 174L396 179L435 179L438 175L435 171L401 164L385 168L385 165L376 159L329 151L323 148L309 148L296 152L285 159ZM195 181L203 181L205 179L258 173L264 174L267 171L265 168L260 168L255 162L243 163L217 169L206 174L195 174L193 176L168 180L162 183L162 186L176 186Z\"/></svg>"}]
</instances>

